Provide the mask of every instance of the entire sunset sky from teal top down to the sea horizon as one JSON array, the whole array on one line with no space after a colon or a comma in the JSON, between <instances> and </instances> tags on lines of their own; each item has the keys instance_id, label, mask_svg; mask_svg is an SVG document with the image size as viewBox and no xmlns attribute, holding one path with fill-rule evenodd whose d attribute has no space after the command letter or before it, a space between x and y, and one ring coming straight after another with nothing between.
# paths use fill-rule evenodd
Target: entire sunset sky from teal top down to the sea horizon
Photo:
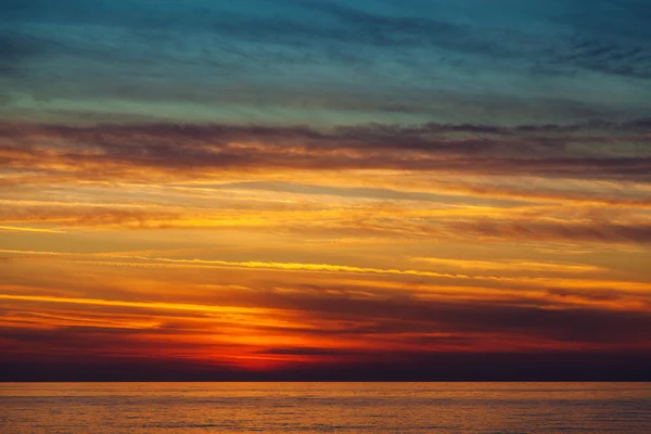
<instances>
[{"instance_id":1,"label":"entire sunset sky from teal top down to the sea horizon","mask_svg":"<svg viewBox=\"0 0 651 434\"><path fill-rule=\"evenodd\" d=\"M0 380L651 380L650 21L0 2Z\"/></svg>"}]
</instances>

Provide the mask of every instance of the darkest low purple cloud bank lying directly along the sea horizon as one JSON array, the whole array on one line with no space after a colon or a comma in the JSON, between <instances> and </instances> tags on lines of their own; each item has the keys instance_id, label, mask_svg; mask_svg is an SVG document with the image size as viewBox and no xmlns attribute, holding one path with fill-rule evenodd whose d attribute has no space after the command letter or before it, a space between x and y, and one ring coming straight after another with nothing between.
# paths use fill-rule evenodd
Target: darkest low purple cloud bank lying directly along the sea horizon
<instances>
[{"instance_id":1,"label":"darkest low purple cloud bank lying directly along the sea horizon","mask_svg":"<svg viewBox=\"0 0 651 434\"><path fill-rule=\"evenodd\" d=\"M0 381L650 381L643 352L404 353L397 357L243 371L189 360L0 361Z\"/></svg>"}]
</instances>

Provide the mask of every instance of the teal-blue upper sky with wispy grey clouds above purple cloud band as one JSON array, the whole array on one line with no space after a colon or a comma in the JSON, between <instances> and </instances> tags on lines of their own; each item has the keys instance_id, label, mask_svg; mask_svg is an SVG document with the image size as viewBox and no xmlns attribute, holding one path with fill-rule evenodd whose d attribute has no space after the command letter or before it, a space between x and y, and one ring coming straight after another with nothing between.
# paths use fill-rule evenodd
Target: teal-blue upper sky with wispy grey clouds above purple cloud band
<instances>
[{"instance_id":1,"label":"teal-blue upper sky with wispy grey clouds above purple cloud band","mask_svg":"<svg viewBox=\"0 0 651 434\"><path fill-rule=\"evenodd\" d=\"M644 0L0 5L0 115L328 127L651 115Z\"/></svg>"}]
</instances>

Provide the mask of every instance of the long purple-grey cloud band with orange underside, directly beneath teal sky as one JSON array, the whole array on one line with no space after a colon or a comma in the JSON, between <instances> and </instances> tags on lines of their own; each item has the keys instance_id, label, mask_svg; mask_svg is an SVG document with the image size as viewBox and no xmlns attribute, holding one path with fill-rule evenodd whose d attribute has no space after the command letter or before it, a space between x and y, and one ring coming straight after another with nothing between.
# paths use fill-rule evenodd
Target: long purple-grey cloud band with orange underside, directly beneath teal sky
<instances>
[{"instance_id":1,"label":"long purple-grey cloud band with orange underside, directly beneath teal sky","mask_svg":"<svg viewBox=\"0 0 651 434\"><path fill-rule=\"evenodd\" d=\"M64 163L84 167L91 164L102 165L106 174L128 167L200 171L271 167L392 168L647 182L651 179L647 124L647 119L640 119L597 126L510 129L472 125L427 124L407 128L376 125L332 131L219 125L88 128L4 125L2 149L7 155L4 164L9 166L34 165L36 168ZM572 136L559 137L559 131L566 130L571 130ZM469 136L458 137L459 132ZM58 143L67 141L67 144L48 150L41 148L41 141L35 140L38 135L48 135ZM608 141L622 142L624 150L628 145L628 155L618 155L600 144ZM242 148L239 142L248 143L250 148ZM257 144L251 148L252 143Z\"/></svg>"}]
</instances>

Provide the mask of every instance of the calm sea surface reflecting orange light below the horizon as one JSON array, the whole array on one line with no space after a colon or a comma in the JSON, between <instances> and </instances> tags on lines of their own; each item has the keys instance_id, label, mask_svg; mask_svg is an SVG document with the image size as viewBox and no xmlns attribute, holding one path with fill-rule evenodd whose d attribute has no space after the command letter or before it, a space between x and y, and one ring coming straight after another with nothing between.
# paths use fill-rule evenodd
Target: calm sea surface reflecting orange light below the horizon
<instances>
[{"instance_id":1,"label":"calm sea surface reflecting orange light below the horizon","mask_svg":"<svg viewBox=\"0 0 651 434\"><path fill-rule=\"evenodd\" d=\"M4 383L0 432L651 433L651 383Z\"/></svg>"}]
</instances>

